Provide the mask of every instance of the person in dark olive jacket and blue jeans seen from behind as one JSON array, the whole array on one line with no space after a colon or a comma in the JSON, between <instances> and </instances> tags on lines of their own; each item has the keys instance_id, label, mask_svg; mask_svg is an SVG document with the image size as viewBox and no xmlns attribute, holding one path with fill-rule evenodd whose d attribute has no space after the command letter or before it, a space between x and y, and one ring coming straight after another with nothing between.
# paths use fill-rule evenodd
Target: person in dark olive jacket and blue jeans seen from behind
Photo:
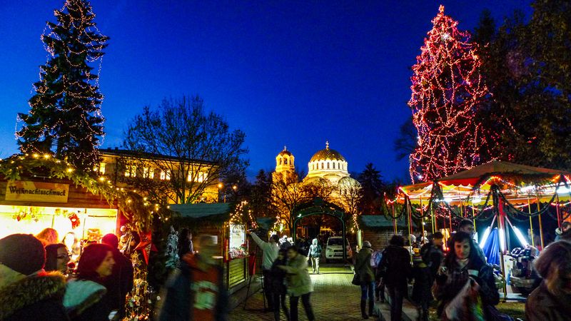
<instances>
[{"instance_id":1,"label":"person in dark olive jacket and blue jeans seen from behind","mask_svg":"<svg viewBox=\"0 0 571 321\"><path fill-rule=\"evenodd\" d=\"M373 267L370 265L371 258L373 257L373 249L369 241L363 242L363 248L357 253L355 258L355 273L359 275L361 286L361 316L363 319L368 319L369 315L373 315L374 289L375 289L375 274ZM367 305L367 297L369 298L368 315L365 312Z\"/></svg>"}]
</instances>

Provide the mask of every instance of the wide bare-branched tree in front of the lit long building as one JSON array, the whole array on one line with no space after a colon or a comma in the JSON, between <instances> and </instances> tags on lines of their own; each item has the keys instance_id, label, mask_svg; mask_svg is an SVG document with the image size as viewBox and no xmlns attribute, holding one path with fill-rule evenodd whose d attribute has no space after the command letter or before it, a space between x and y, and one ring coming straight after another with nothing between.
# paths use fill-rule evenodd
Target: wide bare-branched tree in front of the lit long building
<instances>
[{"instance_id":1,"label":"wide bare-branched tree in front of the lit long building","mask_svg":"<svg viewBox=\"0 0 571 321\"><path fill-rule=\"evenodd\" d=\"M123 146L135 156L124 164L127 171L136 166L133 185L158 202L194 203L207 188L216 198L218 180L248 165L242 158L248 153L245 134L206 112L198 96L143 108L124 135Z\"/></svg>"}]
</instances>

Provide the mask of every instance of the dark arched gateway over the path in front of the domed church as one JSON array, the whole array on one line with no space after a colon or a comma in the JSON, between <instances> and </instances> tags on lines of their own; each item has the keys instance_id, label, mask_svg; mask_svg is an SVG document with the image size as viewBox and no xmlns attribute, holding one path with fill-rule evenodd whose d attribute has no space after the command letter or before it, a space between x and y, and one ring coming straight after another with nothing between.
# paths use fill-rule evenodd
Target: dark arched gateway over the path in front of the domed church
<instances>
[{"instance_id":1,"label":"dark arched gateway over the path in front of the domed church","mask_svg":"<svg viewBox=\"0 0 571 321\"><path fill-rule=\"evenodd\" d=\"M343 220L345 211L340 209L337 205L325 202L321 198L314 198L311 202L301 204L293 211L293 242L295 243L296 240L295 231L297 230L298 222L311 215L329 215L341 221L341 227L343 229L343 262L347 261L347 236L345 235L347 231L345 230L345 220Z\"/></svg>"}]
</instances>

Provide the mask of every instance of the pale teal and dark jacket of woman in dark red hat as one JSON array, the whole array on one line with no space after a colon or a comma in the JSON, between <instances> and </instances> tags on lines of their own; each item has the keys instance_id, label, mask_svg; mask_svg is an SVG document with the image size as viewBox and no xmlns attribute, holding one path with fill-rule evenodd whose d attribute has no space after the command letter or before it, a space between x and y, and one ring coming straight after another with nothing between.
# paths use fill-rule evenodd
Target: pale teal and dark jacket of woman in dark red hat
<instances>
[{"instance_id":1,"label":"pale teal and dark jacket of woman in dark red hat","mask_svg":"<svg viewBox=\"0 0 571 321\"><path fill-rule=\"evenodd\" d=\"M91 280L72 279L67 282L64 307L71 320L109 320L111 307L106 287Z\"/></svg>"}]
</instances>

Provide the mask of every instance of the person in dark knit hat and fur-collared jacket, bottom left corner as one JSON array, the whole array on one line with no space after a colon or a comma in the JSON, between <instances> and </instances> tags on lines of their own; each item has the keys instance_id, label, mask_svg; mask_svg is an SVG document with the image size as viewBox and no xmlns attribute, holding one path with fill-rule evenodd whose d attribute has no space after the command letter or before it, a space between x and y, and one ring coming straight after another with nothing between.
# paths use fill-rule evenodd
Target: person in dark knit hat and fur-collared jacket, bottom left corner
<instances>
[{"instance_id":1,"label":"person in dark knit hat and fur-collared jacket, bottom left corner","mask_svg":"<svg viewBox=\"0 0 571 321\"><path fill-rule=\"evenodd\" d=\"M45 262L44 246L33 235L0 239L0 320L69 320L65 277L42 271Z\"/></svg>"}]
</instances>

